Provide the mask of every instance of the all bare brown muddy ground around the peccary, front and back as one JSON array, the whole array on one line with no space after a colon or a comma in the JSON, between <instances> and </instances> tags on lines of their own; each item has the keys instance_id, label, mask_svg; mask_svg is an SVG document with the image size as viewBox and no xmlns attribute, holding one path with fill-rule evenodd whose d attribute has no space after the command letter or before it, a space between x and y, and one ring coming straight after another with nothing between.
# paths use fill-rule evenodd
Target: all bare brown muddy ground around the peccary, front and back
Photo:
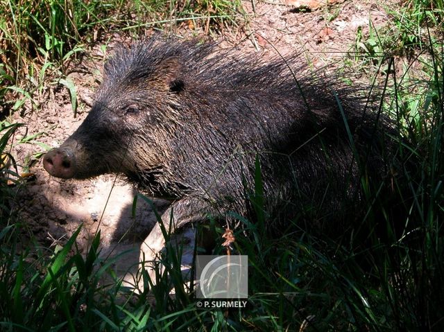
<instances>
[{"instance_id":1,"label":"all bare brown muddy ground around the peccary, front and back","mask_svg":"<svg viewBox=\"0 0 444 332\"><path fill-rule=\"evenodd\" d=\"M376 1L344 1L308 12L295 9L298 2L257 1L253 11L251 1L244 1L250 24L213 37L219 47L237 46L241 52L261 51L264 58L276 56L275 49L284 54L297 52L314 67L323 67L341 62L346 53L353 50L357 30L368 32L370 20L381 26L389 19L384 10L387 4ZM187 29L185 26L179 33L191 35L192 31ZM70 64L68 77L74 82L78 96L76 117L68 89L60 84L49 85L37 96L39 105L28 105L22 114L14 114L13 121L26 125L15 135L15 141L39 134L35 141L56 147L69 137L92 105L103 60L112 54L112 47L122 41L120 35L113 35L105 53L101 48L104 43L98 42L82 60ZM29 164L29 159L35 161L29 169L35 175L33 180L15 188L20 220L26 222L28 229L45 245L63 243L83 223L78 237L78 245L83 250L100 229L103 255L134 249L116 266L119 274L125 273L137 262L139 245L153 227L155 216L151 208L139 200L133 216L137 192L115 175L83 181L50 177L42 167L42 159L33 157L36 152L44 151L35 141L16 144L12 150L19 172L28 171L20 166ZM165 207L165 202L159 200L155 200L155 204L160 209Z\"/></svg>"}]
</instances>

